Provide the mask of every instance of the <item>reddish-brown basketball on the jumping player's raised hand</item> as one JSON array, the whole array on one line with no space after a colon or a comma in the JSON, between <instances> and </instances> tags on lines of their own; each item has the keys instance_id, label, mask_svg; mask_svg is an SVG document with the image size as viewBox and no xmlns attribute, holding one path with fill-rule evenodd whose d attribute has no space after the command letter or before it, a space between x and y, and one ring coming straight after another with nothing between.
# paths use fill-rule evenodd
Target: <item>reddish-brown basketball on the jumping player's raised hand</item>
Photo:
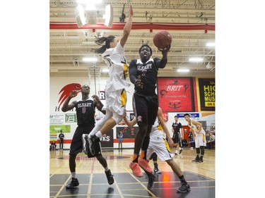
<instances>
[{"instance_id":1,"label":"reddish-brown basketball on the jumping player's raised hand","mask_svg":"<svg viewBox=\"0 0 265 198\"><path fill-rule=\"evenodd\" d=\"M170 33L165 30L156 32L155 35L153 35L153 44L159 49L167 48L171 42L172 37Z\"/></svg>"}]
</instances>

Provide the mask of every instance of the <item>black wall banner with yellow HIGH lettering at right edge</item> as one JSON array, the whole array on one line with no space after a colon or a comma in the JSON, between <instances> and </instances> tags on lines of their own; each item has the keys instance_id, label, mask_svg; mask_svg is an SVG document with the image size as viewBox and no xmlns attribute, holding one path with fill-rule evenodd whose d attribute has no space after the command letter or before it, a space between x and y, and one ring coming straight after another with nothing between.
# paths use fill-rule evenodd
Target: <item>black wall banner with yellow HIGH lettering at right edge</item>
<instances>
[{"instance_id":1,"label":"black wall banner with yellow HIGH lettering at right edge","mask_svg":"<svg viewBox=\"0 0 265 198\"><path fill-rule=\"evenodd\" d=\"M201 111L216 110L216 80L214 78L199 78L199 94Z\"/></svg>"}]
</instances>

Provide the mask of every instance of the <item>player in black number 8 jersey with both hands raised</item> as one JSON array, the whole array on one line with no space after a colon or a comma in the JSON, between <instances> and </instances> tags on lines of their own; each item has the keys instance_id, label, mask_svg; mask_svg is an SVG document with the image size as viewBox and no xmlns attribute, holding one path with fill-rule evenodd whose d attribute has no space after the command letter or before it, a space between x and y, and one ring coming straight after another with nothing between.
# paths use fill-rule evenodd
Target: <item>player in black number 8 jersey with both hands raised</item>
<instances>
[{"instance_id":1,"label":"player in black number 8 jersey with both hands raised","mask_svg":"<svg viewBox=\"0 0 265 198\"><path fill-rule=\"evenodd\" d=\"M81 88L81 93L82 100L72 101L71 104L69 104L69 101L73 97L76 97L76 95L78 94L76 90L71 91L69 97L66 99L64 105L61 108L61 111L66 112L76 107L78 125L76 131L74 132L69 152L69 168L71 171L72 180L69 185L66 185L66 189L72 189L79 185L79 182L76 178L76 155L83 150L82 135L89 134L90 131L93 130L95 126L95 107L97 107L98 110L102 111L103 106L98 96L94 95L92 99L88 98L88 94L90 93L90 87L88 85L83 85L83 87ZM102 113L105 113L105 111L102 111ZM114 178L110 169L107 167L106 159L102 156L100 142L98 142L98 148L99 152L97 152L96 158L105 168L107 180L109 184L112 185Z\"/></svg>"}]
</instances>

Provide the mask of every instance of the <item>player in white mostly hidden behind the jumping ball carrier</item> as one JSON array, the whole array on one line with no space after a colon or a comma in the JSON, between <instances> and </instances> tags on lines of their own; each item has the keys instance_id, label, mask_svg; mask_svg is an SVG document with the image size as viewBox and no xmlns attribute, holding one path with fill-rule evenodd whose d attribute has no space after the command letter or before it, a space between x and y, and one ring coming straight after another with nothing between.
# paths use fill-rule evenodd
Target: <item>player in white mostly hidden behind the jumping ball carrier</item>
<instances>
[{"instance_id":1,"label":"player in white mostly hidden behind the jumping ball carrier","mask_svg":"<svg viewBox=\"0 0 265 198\"><path fill-rule=\"evenodd\" d=\"M124 122L129 127L133 127L137 123L136 118L129 121L126 118L126 115L124 115ZM163 130L161 130L161 129L163 129ZM165 132L165 135L167 136L168 143L165 140L164 132ZM172 139L170 137L170 132L168 132L168 130L167 130L167 125L165 124L165 120L163 117L163 111L162 111L162 109L160 109L160 107L158 107L158 115L156 117L155 123L154 123L153 128L152 128L151 133L150 133L150 142L149 142L148 149L146 152L146 159L150 159L153 152L155 152L161 161L167 162L167 164L172 168L172 171L177 175L177 177L181 181L182 186L179 187L177 192L189 192L190 187L184 178L184 175L182 173L181 168L172 159L170 147L173 147L173 145L174 145L174 142L172 141ZM145 170L143 169L143 171L145 171ZM153 183L151 185L151 182L152 182L151 177L148 175L148 185L149 186L153 186Z\"/></svg>"}]
</instances>

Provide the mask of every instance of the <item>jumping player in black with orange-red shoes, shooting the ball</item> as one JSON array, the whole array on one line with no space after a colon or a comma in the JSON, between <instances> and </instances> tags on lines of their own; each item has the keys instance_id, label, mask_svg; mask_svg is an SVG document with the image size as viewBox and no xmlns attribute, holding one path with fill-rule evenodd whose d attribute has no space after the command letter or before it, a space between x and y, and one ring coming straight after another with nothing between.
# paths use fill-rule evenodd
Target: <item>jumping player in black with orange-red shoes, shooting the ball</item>
<instances>
[{"instance_id":1,"label":"jumping player in black with orange-red shoes, shooting the ball","mask_svg":"<svg viewBox=\"0 0 265 198\"><path fill-rule=\"evenodd\" d=\"M152 172L146 161L146 151L149 144L149 134L158 114L158 95L155 93L155 85L158 78L158 69L165 68L167 64L167 52L170 45L165 49L159 49L163 57L151 58L152 49L148 44L143 44L139 49L141 59L133 59L129 65L129 77L133 83L135 92L133 97L134 114L139 125L139 132L134 141L134 156L130 168L137 177L143 176L144 171ZM139 152L141 149L141 157Z\"/></svg>"}]
</instances>

